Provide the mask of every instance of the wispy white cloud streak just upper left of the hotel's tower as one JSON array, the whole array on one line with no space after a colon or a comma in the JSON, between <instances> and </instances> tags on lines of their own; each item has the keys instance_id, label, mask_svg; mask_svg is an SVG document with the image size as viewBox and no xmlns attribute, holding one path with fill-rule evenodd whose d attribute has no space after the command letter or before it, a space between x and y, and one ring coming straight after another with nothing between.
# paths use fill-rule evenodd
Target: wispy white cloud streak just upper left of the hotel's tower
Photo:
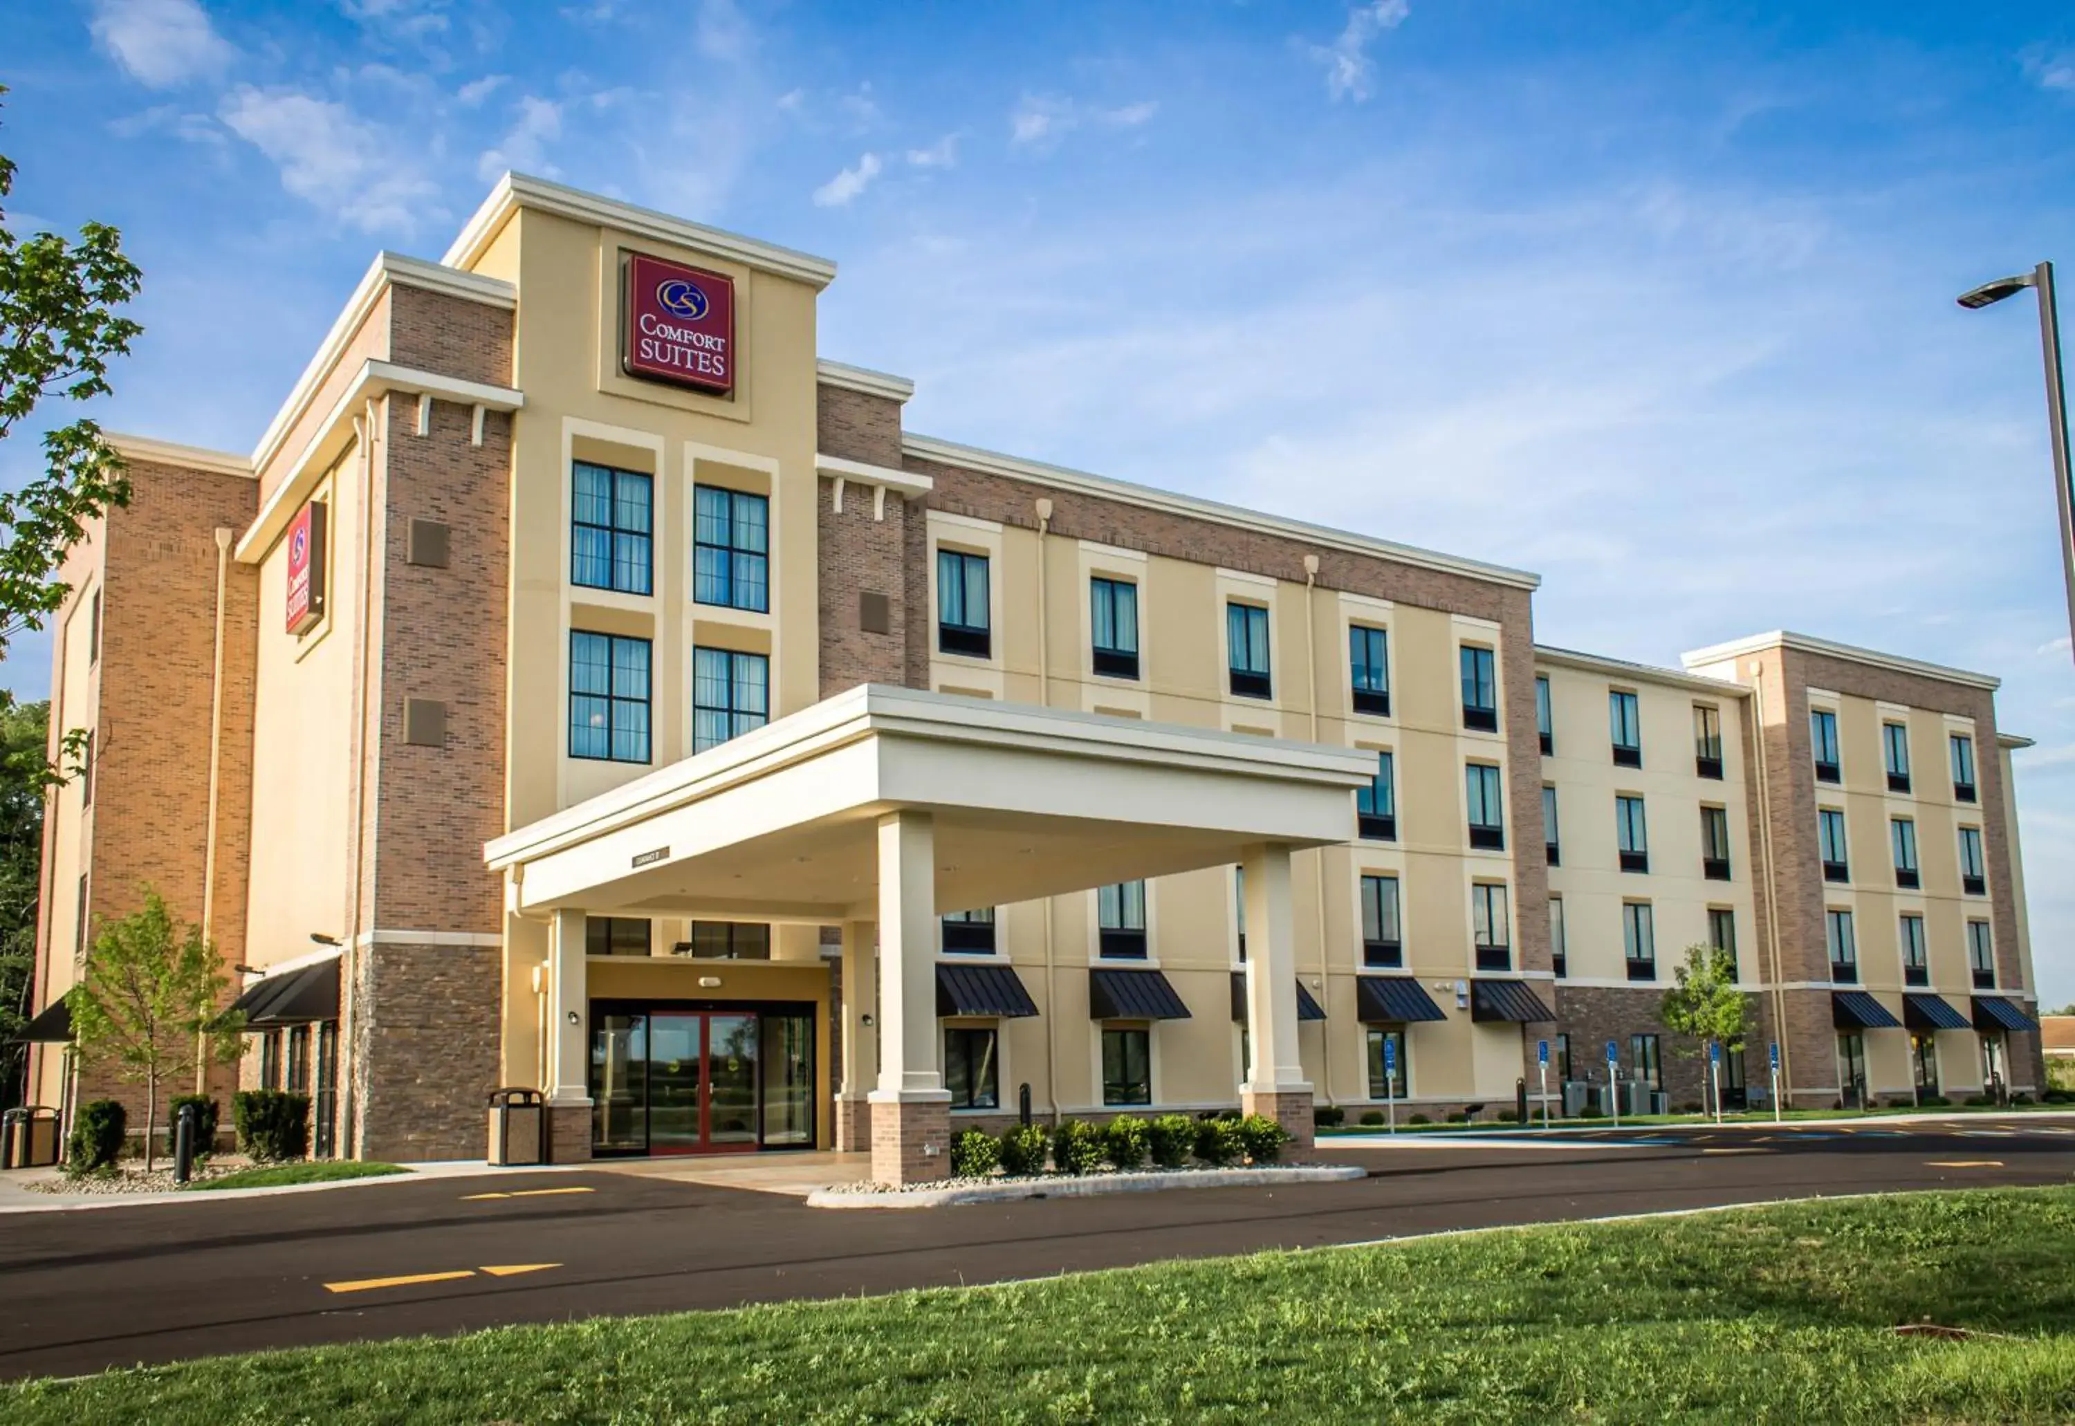
<instances>
[{"instance_id":1,"label":"wispy white cloud streak just upper left of the hotel's tower","mask_svg":"<svg viewBox=\"0 0 2075 1426\"><path fill-rule=\"evenodd\" d=\"M438 187L411 166L407 145L336 100L299 89L239 85L224 125L274 160L280 185L361 232L409 232Z\"/></svg>"}]
</instances>

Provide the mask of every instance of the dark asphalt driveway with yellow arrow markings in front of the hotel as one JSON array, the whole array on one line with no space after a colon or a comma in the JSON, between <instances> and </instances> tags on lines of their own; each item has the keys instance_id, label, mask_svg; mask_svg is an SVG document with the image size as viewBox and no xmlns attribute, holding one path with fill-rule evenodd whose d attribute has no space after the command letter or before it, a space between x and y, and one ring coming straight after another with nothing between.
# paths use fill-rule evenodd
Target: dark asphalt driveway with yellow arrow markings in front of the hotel
<instances>
[{"instance_id":1,"label":"dark asphalt driveway with yellow arrow markings in front of the hotel","mask_svg":"<svg viewBox=\"0 0 2075 1426\"><path fill-rule=\"evenodd\" d=\"M1326 1140L1320 1158L1367 1177L907 1212L822 1212L625 1173L510 1171L15 1216L0 1229L0 1376L1778 1198L2069 1183L2067 1129L1969 1117L1770 1135L1577 1133L1554 1150L1527 1146L1529 1135Z\"/></svg>"}]
</instances>

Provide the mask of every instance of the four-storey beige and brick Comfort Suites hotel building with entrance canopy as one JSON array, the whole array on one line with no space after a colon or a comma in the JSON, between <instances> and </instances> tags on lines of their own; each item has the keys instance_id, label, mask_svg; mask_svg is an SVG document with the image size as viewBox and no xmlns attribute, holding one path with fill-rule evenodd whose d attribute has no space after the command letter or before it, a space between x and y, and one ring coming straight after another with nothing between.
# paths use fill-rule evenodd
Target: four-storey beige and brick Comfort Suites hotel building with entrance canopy
<instances>
[{"instance_id":1,"label":"four-storey beige and brick Comfort Suites hotel building with entrance canopy","mask_svg":"<svg viewBox=\"0 0 2075 1426\"><path fill-rule=\"evenodd\" d=\"M116 438L64 577L31 1100L143 884L317 1152L869 1150L1040 1117L2044 1084L1996 681L1536 643L1536 575L909 432L834 266L506 176L249 455ZM1550 1046L1544 1077L1538 1048ZM1641 1098L1637 1098L1641 1096Z\"/></svg>"}]
</instances>

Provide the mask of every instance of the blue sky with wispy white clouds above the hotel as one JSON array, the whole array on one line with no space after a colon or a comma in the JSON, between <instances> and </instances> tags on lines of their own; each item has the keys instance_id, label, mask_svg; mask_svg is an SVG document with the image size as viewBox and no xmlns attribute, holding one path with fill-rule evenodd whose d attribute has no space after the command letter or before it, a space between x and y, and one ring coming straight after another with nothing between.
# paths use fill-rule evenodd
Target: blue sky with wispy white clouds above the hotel
<instances>
[{"instance_id":1,"label":"blue sky with wispy white clouds above the hotel","mask_svg":"<svg viewBox=\"0 0 2075 1426\"><path fill-rule=\"evenodd\" d=\"M112 428L249 448L506 166L753 232L913 430L1536 569L1550 643L2000 675L2075 998L2038 330L1953 305L2075 264L2065 6L54 0L0 54L17 230L145 266Z\"/></svg>"}]
</instances>

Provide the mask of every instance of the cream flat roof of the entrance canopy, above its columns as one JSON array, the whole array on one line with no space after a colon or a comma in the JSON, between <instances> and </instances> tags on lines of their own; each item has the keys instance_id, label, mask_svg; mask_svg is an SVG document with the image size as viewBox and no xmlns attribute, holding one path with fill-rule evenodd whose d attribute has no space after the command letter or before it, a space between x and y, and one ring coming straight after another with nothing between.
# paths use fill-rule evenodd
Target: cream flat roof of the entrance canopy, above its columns
<instances>
[{"instance_id":1,"label":"cream flat roof of the entrance canopy, above its columns","mask_svg":"<svg viewBox=\"0 0 2075 1426\"><path fill-rule=\"evenodd\" d=\"M878 822L928 812L936 911L1349 841L1376 753L861 685L498 837L517 911L878 915Z\"/></svg>"}]
</instances>

